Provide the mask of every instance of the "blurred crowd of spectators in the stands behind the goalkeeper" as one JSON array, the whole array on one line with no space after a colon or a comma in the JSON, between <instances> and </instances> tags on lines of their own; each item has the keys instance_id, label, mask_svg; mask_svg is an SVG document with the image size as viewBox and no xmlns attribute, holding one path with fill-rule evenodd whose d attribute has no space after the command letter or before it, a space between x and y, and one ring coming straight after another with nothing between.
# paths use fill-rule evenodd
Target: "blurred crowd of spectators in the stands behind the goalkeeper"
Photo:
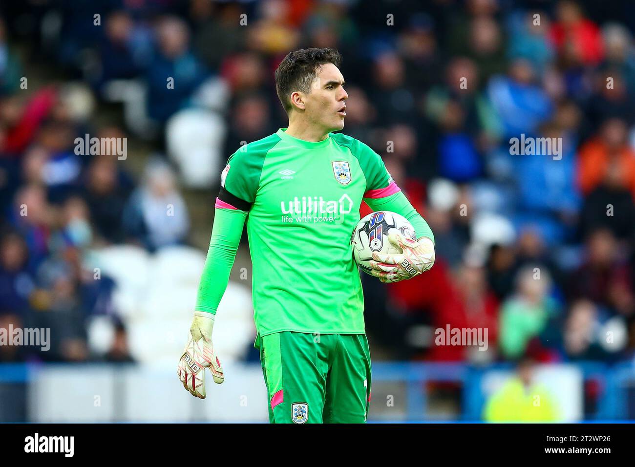
<instances>
[{"instance_id":1,"label":"blurred crowd of spectators in the stands behind the goalkeeper","mask_svg":"<svg viewBox=\"0 0 635 467\"><path fill-rule=\"evenodd\" d=\"M629 3L612 8L635 17ZM194 206L184 190L216 190L241 142L286 126L273 71L288 51L312 46L344 56L344 133L382 156L436 238L436 264L422 276L382 287L363 277L371 342L389 358L437 361L632 357L630 19L568 0L3 9L0 327L51 327L55 342L46 355L0 348L0 360L131 360L117 284L93 280L86 251L187 243ZM50 76L31 76L34 63ZM95 123L114 102L117 119ZM130 159L78 155L86 134L142 141L156 157L135 171ZM559 139L561 152L512 154L521 134ZM116 323L104 355L86 344L95 315ZM487 328L488 349L435 345L447 325Z\"/></svg>"}]
</instances>

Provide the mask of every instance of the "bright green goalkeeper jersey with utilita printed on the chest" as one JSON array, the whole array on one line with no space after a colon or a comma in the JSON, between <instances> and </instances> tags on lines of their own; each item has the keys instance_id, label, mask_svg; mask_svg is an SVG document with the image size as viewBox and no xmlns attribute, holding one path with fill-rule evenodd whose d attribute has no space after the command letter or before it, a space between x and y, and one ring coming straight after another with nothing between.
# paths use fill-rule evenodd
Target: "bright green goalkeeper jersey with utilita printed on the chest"
<instances>
[{"instance_id":1,"label":"bright green goalkeeper jersey with utilita printed on the chest","mask_svg":"<svg viewBox=\"0 0 635 467\"><path fill-rule=\"evenodd\" d=\"M219 252L209 268L229 260L231 269L246 219L261 336L362 334L363 294L350 245L361 201L401 213L417 238L434 241L432 232L370 147L341 133L309 142L285 130L241 147L227 161L205 269ZM204 272L197 310L215 313L228 277L229 271ZM215 279L220 283L212 285Z\"/></svg>"}]
</instances>

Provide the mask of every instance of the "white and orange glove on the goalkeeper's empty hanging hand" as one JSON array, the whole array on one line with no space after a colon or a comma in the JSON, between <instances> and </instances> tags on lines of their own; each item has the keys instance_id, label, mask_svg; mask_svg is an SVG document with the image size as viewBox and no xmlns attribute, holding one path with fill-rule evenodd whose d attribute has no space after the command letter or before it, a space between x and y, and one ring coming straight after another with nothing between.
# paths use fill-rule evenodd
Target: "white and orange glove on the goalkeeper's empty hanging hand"
<instances>
[{"instance_id":1,"label":"white and orange glove on the goalkeeper's empty hanging hand","mask_svg":"<svg viewBox=\"0 0 635 467\"><path fill-rule=\"evenodd\" d=\"M211 343L211 331L214 327L214 315L204 311L194 311L194 320L190 327L190 335L178 362L178 379L192 396L205 398L204 372L211 371L214 382L225 381L220 360L216 356Z\"/></svg>"}]
</instances>

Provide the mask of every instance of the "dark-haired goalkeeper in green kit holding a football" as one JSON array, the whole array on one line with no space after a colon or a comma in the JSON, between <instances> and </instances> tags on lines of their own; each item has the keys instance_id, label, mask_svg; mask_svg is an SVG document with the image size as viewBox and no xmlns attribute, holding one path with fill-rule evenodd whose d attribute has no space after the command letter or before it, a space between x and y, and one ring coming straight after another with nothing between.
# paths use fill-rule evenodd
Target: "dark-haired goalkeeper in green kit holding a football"
<instances>
[{"instance_id":1,"label":"dark-haired goalkeeper in green kit holding a football","mask_svg":"<svg viewBox=\"0 0 635 467\"><path fill-rule=\"evenodd\" d=\"M434 236L380 156L342 133L340 54L289 53L274 76L288 128L238 149L221 174L210 248L178 376L205 397L204 369L224 380L211 335L247 223L253 309L271 423L364 423L371 367L351 233L364 200L410 220L417 241L391 234L403 254L373 254L373 275L395 282L434 263Z\"/></svg>"}]
</instances>

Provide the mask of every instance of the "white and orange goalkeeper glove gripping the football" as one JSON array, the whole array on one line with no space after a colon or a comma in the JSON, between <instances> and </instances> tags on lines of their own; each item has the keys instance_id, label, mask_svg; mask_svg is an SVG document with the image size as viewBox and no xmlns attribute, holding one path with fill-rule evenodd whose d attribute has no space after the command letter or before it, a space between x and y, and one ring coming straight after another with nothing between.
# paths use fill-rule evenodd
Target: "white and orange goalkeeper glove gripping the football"
<instances>
[{"instance_id":1,"label":"white and orange goalkeeper glove gripping the football","mask_svg":"<svg viewBox=\"0 0 635 467\"><path fill-rule=\"evenodd\" d=\"M410 240L401 233L391 233L388 241L398 250L399 254L373 253L370 266L371 274L382 282L399 282L411 279L427 271L434 264L434 243L427 237L418 241Z\"/></svg>"}]
</instances>

